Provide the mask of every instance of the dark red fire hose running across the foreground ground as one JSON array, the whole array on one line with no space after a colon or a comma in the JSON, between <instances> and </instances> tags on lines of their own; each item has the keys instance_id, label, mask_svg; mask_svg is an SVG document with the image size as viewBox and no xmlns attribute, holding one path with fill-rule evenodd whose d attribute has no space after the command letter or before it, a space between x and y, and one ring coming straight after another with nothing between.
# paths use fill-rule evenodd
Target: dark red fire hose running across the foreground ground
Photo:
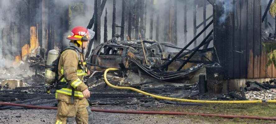
<instances>
[{"instance_id":1,"label":"dark red fire hose running across the foreground ground","mask_svg":"<svg viewBox=\"0 0 276 124\"><path fill-rule=\"evenodd\" d=\"M57 109L57 107L47 106L34 106L25 104L13 104L0 102L1 105L19 106L25 108L39 108L39 109ZM248 118L259 120L276 120L276 117L258 117L258 116L242 116L242 115L221 115L221 114L204 114L204 113L184 113L184 112L154 112L154 111L126 111L126 110L108 110L108 109L92 109L93 112L105 112L105 113L126 113L126 114L166 114L166 115L200 115L208 117L222 117L222 118Z\"/></svg>"}]
</instances>

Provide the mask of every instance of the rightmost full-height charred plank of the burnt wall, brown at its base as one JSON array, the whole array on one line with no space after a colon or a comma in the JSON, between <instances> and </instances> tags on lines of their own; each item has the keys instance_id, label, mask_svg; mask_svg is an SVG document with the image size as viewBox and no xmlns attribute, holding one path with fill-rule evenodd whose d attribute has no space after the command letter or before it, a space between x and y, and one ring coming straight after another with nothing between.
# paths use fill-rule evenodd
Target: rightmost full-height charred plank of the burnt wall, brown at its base
<instances>
[{"instance_id":1,"label":"rightmost full-height charred plank of the burnt wall, brown at its base","mask_svg":"<svg viewBox=\"0 0 276 124\"><path fill-rule=\"evenodd\" d=\"M260 0L254 0L254 78L260 78L260 35L261 35L261 6Z\"/></svg>"}]
</instances>

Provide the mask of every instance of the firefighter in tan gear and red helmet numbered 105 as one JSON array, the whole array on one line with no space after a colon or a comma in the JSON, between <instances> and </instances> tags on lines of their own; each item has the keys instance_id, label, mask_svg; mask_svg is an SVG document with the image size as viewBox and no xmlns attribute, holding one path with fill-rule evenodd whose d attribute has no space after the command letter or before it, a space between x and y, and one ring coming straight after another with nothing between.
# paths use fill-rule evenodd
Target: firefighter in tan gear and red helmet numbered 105
<instances>
[{"instance_id":1,"label":"firefighter in tan gear and red helmet numbered 105","mask_svg":"<svg viewBox=\"0 0 276 124\"><path fill-rule=\"evenodd\" d=\"M55 124L92 124L92 112L86 98L90 97L87 85L82 82L87 75L84 49L95 32L84 27L73 28L70 47L65 48L58 60L58 83L55 97L58 113Z\"/></svg>"}]
</instances>

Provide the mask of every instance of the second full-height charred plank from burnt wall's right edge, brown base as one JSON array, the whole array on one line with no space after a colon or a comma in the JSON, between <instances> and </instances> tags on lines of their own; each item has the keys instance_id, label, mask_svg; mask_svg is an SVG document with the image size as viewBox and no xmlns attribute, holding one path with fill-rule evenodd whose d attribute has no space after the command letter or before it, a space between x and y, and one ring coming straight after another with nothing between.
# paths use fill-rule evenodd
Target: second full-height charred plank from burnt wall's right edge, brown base
<instances>
[{"instance_id":1,"label":"second full-height charred plank from burnt wall's right edge, brown base","mask_svg":"<svg viewBox=\"0 0 276 124\"><path fill-rule=\"evenodd\" d=\"M253 4L254 0L247 1L247 78L253 78Z\"/></svg>"}]
</instances>

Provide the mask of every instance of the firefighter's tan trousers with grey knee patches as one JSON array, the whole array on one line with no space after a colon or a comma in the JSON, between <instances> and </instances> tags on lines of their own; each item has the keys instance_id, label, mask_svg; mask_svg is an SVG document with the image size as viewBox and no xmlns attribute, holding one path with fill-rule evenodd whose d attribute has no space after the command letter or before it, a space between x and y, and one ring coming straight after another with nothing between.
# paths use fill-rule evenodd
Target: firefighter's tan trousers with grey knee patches
<instances>
[{"instance_id":1,"label":"firefighter's tan trousers with grey knee patches","mask_svg":"<svg viewBox=\"0 0 276 124\"><path fill-rule=\"evenodd\" d=\"M92 112L86 99L58 100L58 114L55 124L92 124Z\"/></svg>"}]
</instances>

